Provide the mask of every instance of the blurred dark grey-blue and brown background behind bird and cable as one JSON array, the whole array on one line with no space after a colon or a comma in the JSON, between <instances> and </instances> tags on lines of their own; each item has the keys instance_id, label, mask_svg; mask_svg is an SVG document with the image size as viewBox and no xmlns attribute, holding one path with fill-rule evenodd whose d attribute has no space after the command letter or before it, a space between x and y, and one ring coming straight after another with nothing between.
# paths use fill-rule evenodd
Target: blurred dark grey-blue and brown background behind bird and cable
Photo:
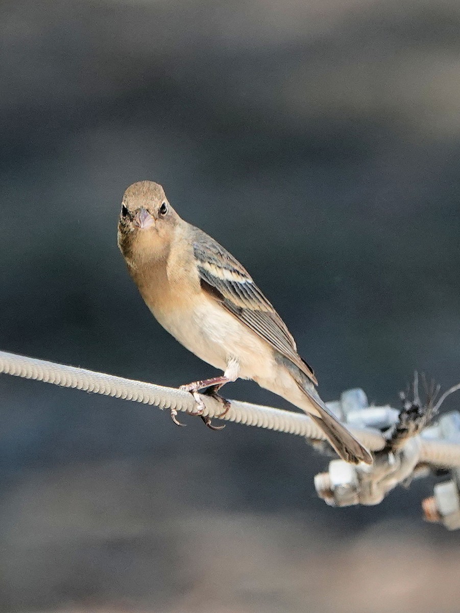
<instances>
[{"instance_id":1,"label":"blurred dark grey-blue and brown background behind bird and cable","mask_svg":"<svg viewBox=\"0 0 460 613\"><path fill-rule=\"evenodd\" d=\"M458 383L459 28L454 0L2 1L0 348L213 375L118 253L151 179L249 269L325 400ZM1 611L458 611L432 481L332 509L300 438L7 376L0 403Z\"/></svg>"}]
</instances>

